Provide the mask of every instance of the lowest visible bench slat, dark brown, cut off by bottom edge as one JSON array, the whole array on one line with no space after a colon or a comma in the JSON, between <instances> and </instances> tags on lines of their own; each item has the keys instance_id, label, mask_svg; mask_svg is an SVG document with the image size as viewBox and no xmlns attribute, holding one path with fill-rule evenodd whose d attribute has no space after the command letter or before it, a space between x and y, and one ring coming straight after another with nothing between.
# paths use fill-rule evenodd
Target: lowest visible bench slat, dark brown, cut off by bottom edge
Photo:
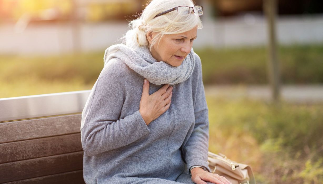
<instances>
[{"instance_id":1,"label":"lowest visible bench slat, dark brown, cut off by bottom edge","mask_svg":"<svg viewBox=\"0 0 323 184\"><path fill-rule=\"evenodd\" d=\"M83 170L65 172L60 174L54 174L49 176L42 176L32 179L24 179L19 181L13 181L6 184L70 184L70 183L80 183L84 184L83 180Z\"/></svg>"}]
</instances>

